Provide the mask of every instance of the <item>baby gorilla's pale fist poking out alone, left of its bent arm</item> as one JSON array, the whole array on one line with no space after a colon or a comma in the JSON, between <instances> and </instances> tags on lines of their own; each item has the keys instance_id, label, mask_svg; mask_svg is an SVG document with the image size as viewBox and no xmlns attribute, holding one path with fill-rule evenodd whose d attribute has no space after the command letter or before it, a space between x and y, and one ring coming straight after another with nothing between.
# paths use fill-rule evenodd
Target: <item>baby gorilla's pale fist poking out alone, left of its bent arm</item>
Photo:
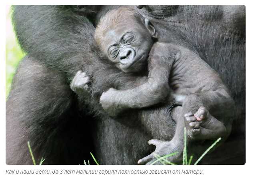
<instances>
[{"instance_id":1,"label":"baby gorilla's pale fist poking out alone, left of its bent arm","mask_svg":"<svg viewBox=\"0 0 256 184\"><path fill-rule=\"evenodd\" d=\"M70 83L70 88L76 94L86 96L89 93L90 77L82 71L78 71Z\"/></svg>"}]
</instances>

